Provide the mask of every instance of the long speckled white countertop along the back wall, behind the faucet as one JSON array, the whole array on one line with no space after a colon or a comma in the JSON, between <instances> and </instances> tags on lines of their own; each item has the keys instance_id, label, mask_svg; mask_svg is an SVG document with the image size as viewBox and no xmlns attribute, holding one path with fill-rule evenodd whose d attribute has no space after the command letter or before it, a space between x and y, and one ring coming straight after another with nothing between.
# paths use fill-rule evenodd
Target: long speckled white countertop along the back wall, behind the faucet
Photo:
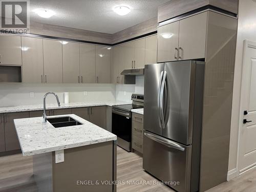
<instances>
[{"instance_id":1,"label":"long speckled white countertop along the back wall, behind the faucet","mask_svg":"<svg viewBox=\"0 0 256 192\"><path fill-rule=\"evenodd\" d=\"M106 101L106 102L74 102L74 103L60 103L60 106L57 103L46 104L46 109L65 109L65 108L81 108L86 106L113 106L120 104L130 104L129 102L124 101ZM43 110L42 104L31 104L31 105L19 105L19 106L8 106L0 108L0 113L11 113L11 112L23 112L23 111L38 111Z\"/></svg>"}]
</instances>

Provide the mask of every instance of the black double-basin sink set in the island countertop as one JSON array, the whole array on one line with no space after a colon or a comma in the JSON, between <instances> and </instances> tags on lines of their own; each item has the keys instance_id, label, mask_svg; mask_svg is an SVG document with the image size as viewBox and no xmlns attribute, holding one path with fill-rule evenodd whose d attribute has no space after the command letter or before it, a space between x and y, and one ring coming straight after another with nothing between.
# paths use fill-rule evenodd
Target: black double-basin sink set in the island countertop
<instances>
[{"instance_id":1,"label":"black double-basin sink set in the island countertop","mask_svg":"<svg viewBox=\"0 0 256 192\"><path fill-rule=\"evenodd\" d=\"M48 118L47 119L55 128L64 127L64 126L74 126L80 125L82 123L71 117L57 117L57 118Z\"/></svg>"}]
</instances>

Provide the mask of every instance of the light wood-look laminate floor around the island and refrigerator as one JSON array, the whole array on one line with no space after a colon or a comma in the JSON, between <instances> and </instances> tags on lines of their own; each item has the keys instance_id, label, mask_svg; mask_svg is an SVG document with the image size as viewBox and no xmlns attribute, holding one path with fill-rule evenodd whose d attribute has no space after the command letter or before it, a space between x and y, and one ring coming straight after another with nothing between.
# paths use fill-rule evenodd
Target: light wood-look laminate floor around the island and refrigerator
<instances>
[{"instance_id":1,"label":"light wood-look laminate floor around the island and refrigerator","mask_svg":"<svg viewBox=\"0 0 256 192\"><path fill-rule=\"evenodd\" d=\"M0 191L3 192L35 192L36 184L33 180L32 157L23 157L22 154L0 157ZM117 186L118 192L165 192L174 191L171 188L157 184L153 176L142 169L142 157L136 153L128 153L117 147L117 180L124 184ZM126 181L148 181L151 184L127 184ZM256 191L256 169L224 182L207 192L251 192Z\"/></svg>"}]
</instances>

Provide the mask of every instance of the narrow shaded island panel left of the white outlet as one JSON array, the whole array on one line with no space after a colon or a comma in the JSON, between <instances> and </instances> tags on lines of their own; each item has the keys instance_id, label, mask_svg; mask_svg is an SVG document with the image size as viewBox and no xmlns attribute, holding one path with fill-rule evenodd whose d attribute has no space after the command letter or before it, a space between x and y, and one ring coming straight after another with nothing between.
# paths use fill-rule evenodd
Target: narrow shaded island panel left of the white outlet
<instances>
[{"instance_id":1,"label":"narrow shaded island panel left of the white outlet","mask_svg":"<svg viewBox=\"0 0 256 192\"><path fill-rule=\"evenodd\" d=\"M33 155L33 173L38 191L52 191L52 152Z\"/></svg>"}]
</instances>

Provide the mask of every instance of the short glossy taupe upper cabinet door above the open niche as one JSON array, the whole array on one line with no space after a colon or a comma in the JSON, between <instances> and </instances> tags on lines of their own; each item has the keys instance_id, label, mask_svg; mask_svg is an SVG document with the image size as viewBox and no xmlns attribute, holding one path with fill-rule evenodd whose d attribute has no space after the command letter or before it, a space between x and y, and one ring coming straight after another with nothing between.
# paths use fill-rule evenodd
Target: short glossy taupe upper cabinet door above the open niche
<instances>
[{"instance_id":1,"label":"short glossy taupe upper cabinet door above the open niche","mask_svg":"<svg viewBox=\"0 0 256 192\"><path fill-rule=\"evenodd\" d=\"M21 37L0 35L0 64L22 65Z\"/></svg>"}]
</instances>

